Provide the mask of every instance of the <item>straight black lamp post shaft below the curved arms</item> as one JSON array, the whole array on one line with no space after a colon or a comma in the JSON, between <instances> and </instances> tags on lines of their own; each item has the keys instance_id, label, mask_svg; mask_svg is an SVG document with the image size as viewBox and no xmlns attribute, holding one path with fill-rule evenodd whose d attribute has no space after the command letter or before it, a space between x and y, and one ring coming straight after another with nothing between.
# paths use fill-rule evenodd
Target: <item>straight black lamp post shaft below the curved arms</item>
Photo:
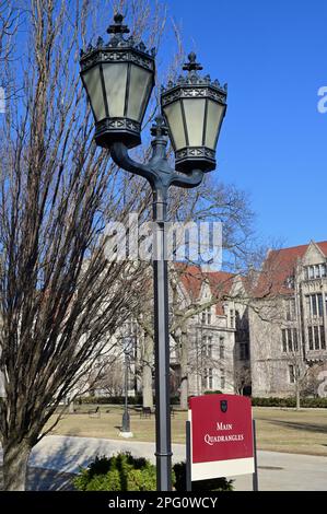
<instances>
[{"instance_id":1,"label":"straight black lamp post shaft below the curved arms","mask_svg":"<svg viewBox=\"0 0 327 514\"><path fill-rule=\"evenodd\" d=\"M168 273L165 248L166 188L153 190L153 271L155 338L155 456L159 491L172 490Z\"/></svg>"}]
</instances>

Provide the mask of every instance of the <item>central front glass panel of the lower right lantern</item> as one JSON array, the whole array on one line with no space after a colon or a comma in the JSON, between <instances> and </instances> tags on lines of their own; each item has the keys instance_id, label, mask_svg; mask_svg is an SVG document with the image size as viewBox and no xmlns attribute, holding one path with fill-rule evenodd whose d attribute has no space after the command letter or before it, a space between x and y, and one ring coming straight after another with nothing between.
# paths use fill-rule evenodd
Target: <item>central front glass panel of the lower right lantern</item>
<instances>
[{"instance_id":1,"label":"central front glass panel of the lower right lantern","mask_svg":"<svg viewBox=\"0 0 327 514\"><path fill-rule=\"evenodd\" d=\"M202 147L206 100L184 100L185 120L189 147Z\"/></svg>"}]
</instances>

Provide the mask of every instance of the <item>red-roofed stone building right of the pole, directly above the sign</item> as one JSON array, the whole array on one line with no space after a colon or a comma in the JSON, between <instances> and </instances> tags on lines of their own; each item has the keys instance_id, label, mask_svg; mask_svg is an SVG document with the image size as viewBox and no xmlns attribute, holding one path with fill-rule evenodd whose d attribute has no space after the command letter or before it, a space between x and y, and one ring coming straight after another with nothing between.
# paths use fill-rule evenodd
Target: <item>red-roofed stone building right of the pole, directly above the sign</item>
<instances>
[{"instance_id":1,"label":"red-roofed stone building right of the pole, directly above the sign","mask_svg":"<svg viewBox=\"0 0 327 514\"><path fill-rule=\"evenodd\" d=\"M244 281L227 272L205 272L196 266L187 266L179 276L178 287L182 308L199 307L199 313L187 322L188 395L207 390L249 393L247 307L236 301L244 290ZM180 359L173 344L171 366L177 393L182 379Z\"/></svg>"}]
</instances>

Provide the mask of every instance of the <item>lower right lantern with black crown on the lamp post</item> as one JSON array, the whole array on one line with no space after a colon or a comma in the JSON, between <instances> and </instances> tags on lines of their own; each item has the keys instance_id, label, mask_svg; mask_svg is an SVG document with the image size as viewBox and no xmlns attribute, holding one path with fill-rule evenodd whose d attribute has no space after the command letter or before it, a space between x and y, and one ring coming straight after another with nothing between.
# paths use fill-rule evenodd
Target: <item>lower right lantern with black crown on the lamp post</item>
<instances>
[{"instance_id":1,"label":"lower right lantern with black crown on the lamp post","mask_svg":"<svg viewBox=\"0 0 327 514\"><path fill-rule=\"evenodd\" d=\"M162 86L161 105L175 150L176 170L199 167L214 170L215 147L226 109L227 85L209 74L201 77L202 66L194 51L183 67L186 75Z\"/></svg>"}]
</instances>

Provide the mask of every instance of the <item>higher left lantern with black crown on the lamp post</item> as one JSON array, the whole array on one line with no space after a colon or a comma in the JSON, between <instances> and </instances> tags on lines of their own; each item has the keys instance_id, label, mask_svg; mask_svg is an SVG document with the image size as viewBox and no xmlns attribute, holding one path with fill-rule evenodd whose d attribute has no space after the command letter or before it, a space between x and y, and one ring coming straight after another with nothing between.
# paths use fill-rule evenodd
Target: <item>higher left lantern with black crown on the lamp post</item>
<instances>
[{"instance_id":1,"label":"higher left lantern with black crown on the lamp post","mask_svg":"<svg viewBox=\"0 0 327 514\"><path fill-rule=\"evenodd\" d=\"M155 49L129 34L124 16L116 13L107 28L108 43L81 50L81 77L95 118L95 141L109 148L122 141L128 148L141 142L141 124L154 86Z\"/></svg>"}]
</instances>

